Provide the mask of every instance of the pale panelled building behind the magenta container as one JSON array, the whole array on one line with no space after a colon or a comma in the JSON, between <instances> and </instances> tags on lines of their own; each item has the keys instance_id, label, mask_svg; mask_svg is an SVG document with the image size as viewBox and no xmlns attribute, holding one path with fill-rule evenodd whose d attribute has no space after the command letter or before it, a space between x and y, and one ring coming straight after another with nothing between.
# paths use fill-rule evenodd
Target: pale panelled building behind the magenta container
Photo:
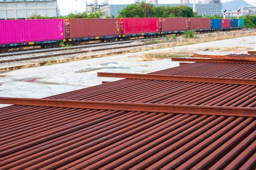
<instances>
[{"instance_id":1,"label":"pale panelled building behind the magenta container","mask_svg":"<svg viewBox=\"0 0 256 170\"><path fill-rule=\"evenodd\" d=\"M32 15L57 17L57 0L0 0L0 19L27 19Z\"/></svg>"}]
</instances>

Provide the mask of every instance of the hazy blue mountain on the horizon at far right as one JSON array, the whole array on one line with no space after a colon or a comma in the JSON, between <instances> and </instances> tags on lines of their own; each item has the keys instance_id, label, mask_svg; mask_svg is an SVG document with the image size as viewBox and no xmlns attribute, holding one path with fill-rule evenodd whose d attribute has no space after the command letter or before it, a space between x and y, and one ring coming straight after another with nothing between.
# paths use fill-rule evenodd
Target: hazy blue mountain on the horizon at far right
<instances>
[{"instance_id":1,"label":"hazy blue mountain on the horizon at far right","mask_svg":"<svg viewBox=\"0 0 256 170\"><path fill-rule=\"evenodd\" d=\"M222 10L225 11L238 11L240 7L254 7L253 5L248 4L244 0L232 0L230 2L222 3Z\"/></svg>"}]
</instances>

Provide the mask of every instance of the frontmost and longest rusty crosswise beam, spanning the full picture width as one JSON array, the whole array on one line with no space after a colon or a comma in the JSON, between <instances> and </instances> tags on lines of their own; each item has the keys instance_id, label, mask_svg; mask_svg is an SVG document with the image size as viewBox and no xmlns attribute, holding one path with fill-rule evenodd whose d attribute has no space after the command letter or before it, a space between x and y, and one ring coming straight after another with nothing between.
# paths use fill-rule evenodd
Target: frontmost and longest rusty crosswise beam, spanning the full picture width
<instances>
[{"instance_id":1,"label":"frontmost and longest rusty crosswise beam, spanning the full picture width","mask_svg":"<svg viewBox=\"0 0 256 170\"><path fill-rule=\"evenodd\" d=\"M151 104L130 102L97 102L60 99L25 99L0 97L1 104L16 104L25 106L48 106L63 108L85 108L101 110L124 110L157 113L181 113L196 115L222 115L239 117L256 117L256 108L227 106L198 106L182 104Z\"/></svg>"}]
</instances>

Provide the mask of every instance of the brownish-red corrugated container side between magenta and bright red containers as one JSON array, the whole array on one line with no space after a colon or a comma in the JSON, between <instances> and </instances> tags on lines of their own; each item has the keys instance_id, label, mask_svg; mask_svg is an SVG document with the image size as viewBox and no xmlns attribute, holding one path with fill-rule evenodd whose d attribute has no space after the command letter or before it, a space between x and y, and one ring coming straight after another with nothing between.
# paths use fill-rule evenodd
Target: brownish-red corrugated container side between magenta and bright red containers
<instances>
[{"instance_id":1,"label":"brownish-red corrugated container side between magenta and bright red containers","mask_svg":"<svg viewBox=\"0 0 256 170\"><path fill-rule=\"evenodd\" d=\"M70 38L119 35L117 18L70 19Z\"/></svg>"}]
</instances>

